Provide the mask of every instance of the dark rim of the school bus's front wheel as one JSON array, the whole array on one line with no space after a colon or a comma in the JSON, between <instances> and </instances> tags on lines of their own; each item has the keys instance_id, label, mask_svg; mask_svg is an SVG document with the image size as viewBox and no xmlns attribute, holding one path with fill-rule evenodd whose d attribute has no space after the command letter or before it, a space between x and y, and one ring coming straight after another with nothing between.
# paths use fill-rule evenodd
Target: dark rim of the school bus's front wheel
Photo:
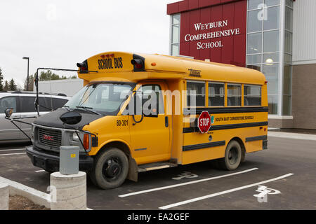
<instances>
[{"instance_id":1,"label":"dark rim of the school bus's front wheel","mask_svg":"<svg viewBox=\"0 0 316 224\"><path fill-rule=\"evenodd\" d=\"M109 182L119 179L123 170L122 162L117 157L110 157L105 160L103 165L102 174L103 178Z\"/></svg>"}]
</instances>

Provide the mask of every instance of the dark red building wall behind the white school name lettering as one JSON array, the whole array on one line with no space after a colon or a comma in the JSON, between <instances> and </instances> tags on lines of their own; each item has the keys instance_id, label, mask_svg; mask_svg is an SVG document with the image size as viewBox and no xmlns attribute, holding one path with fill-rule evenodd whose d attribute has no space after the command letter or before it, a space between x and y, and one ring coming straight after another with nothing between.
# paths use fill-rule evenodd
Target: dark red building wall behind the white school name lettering
<instances>
[{"instance_id":1,"label":"dark red building wall behind the white school name lettering","mask_svg":"<svg viewBox=\"0 0 316 224\"><path fill-rule=\"evenodd\" d=\"M180 55L244 66L246 63L246 0L186 0L179 3L188 4L188 10L180 13ZM190 8L195 9L190 10ZM225 23L227 21L227 25L224 25L223 21ZM199 23L209 26L210 22L222 22L222 26L218 27L215 24L215 27L211 29L206 25L204 25L204 29L195 28L195 25L199 25ZM222 33L222 36L212 36L212 38L199 36L198 40L185 41L187 34L207 35L216 31L236 32L236 29L239 29L237 34L230 33L228 36L223 36ZM215 43L216 47L205 47ZM201 45L205 48L198 49L198 46Z\"/></svg>"}]
</instances>

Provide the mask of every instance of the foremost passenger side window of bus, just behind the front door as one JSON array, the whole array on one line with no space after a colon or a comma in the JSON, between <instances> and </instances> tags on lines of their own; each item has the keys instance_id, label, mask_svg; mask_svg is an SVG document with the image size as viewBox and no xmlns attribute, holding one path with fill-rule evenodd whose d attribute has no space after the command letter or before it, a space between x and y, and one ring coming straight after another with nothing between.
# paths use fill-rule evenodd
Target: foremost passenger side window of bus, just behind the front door
<instances>
[{"instance_id":1,"label":"foremost passenger side window of bus, just behind the front door","mask_svg":"<svg viewBox=\"0 0 316 224\"><path fill-rule=\"evenodd\" d=\"M205 106L205 83L187 81L187 106Z\"/></svg>"}]
</instances>

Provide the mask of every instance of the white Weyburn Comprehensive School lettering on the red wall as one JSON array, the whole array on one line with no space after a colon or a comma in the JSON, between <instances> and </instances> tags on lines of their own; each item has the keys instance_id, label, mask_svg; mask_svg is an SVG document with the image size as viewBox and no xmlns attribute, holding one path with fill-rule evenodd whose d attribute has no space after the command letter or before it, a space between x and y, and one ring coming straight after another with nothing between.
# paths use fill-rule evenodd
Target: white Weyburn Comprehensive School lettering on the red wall
<instances>
[{"instance_id":1,"label":"white Weyburn Comprehensive School lettering on the red wall","mask_svg":"<svg viewBox=\"0 0 316 224\"><path fill-rule=\"evenodd\" d=\"M209 30L209 32L205 32L203 34L186 34L185 41L199 41L197 42L197 50L200 49L208 49L208 48L222 48L223 43L222 41L209 41L206 43L202 43L202 40L209 40L212 38L220 38L222 36L233 36L239 35L240 29L224 29L221 31L210 31L211 29L219 28L219 27L227 27L228 20L222 20L217 22L209 22L209 23L195 23L195 30L196 31L204 31Z\"/></svg>"}]
</instances>

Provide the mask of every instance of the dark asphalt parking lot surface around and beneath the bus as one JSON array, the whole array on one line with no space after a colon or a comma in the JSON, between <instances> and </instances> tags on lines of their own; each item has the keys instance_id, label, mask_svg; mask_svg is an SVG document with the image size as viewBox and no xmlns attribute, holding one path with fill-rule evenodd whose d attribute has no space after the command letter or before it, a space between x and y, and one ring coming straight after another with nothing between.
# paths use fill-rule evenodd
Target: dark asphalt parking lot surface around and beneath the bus
<instances>
[{"instance_id":1,"label":"dark asphalt parking lot surface around and beneath the bus","mask_svg":"<svg viewBox=\"0 0 316 224\"><path fill-rule=\"evenodd\" d=\"M0 176L46 192L50 176L31 164L27 145L0 145ZM316 141L268 137L268 148L247 154L233 172L200 162L140 173L138 183L126 181L112 190L100 190L88 180L88 207L315 210Z\"/></svg>"}]
</instances>

